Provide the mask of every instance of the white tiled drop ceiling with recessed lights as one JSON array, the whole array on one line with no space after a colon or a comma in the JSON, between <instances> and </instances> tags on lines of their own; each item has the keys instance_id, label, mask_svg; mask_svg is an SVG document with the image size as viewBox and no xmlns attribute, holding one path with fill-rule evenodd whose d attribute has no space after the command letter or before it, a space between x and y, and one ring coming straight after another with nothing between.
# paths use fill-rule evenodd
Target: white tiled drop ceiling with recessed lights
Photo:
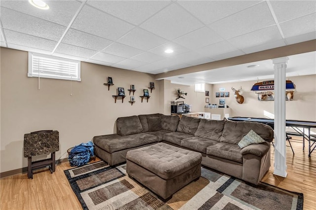
<instances>
[{"instance_id":1,"label":"white tiled drop ceiling with recessed lights","mask_svg":"<svg viewBox=\"0 0 316 210\"><path fill-rule=\"evenodd\" d=\"M0 45L158 74L316 39L315 0L45 2L49 10L0 0ZM289 75L316 73L315 52L304 55L290 57ZM167 79L194 84L271 77L271 61L256 64Z\"/></svg>"}]
</instances>

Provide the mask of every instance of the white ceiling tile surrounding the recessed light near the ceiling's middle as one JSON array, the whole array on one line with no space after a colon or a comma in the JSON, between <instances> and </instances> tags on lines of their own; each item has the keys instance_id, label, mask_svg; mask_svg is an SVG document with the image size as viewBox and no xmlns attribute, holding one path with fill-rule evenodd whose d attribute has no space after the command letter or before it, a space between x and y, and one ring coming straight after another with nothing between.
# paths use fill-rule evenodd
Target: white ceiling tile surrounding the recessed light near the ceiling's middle
<instances>
[{"instance_id":1,"label":"white ceiling tile surrounding the recessed light near the ceiling's middle","mask_svg":"<svg viewBox=\"0 0 316 210\"><path fill-rule=\"evenodd\" d=\"M165 53L164 51L166 49L172 49L173 53ZM182 54L182 53L185 53L188 51L189 51L188 48L186 48L180 44L173 43L171 41L166 42L164 44L161 44L158 47L155 47L155 48L149 50L149 52L151 52L151 53L155 53L157 55L167 57L167 58L175 56L175 55L179 55L179 54Z\"/></svg>"}]
</instances>

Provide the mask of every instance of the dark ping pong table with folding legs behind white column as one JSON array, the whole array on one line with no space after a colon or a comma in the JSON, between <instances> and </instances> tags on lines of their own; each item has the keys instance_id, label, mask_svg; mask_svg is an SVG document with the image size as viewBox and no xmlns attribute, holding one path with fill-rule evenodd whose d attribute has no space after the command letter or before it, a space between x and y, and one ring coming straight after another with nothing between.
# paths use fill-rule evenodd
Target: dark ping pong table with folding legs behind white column
<instances>
[{"instance_id":1,"label":"dark ping pong table with folding legs behind white column","mask_svg":"<svg viewBox=\"0 0 316 210\"><path fill-rule=\"evenodd\" d=\"M249 121L259 122L263 124L274 123L275 121L274 119L257 117L229 117L228 119L232 121ZM294 131L296 131L303 137L303 150L305 149L305 140L308 140L308 156L311 157L311 153L316 148L316 139L312 138L311 128L316 128L316 122L302 120L285 120L285 126L293 128ZM303 131L300 128L303 128ZM305 130L307 130L307 132L305 132Z\"/></svg>"}]
</instances>

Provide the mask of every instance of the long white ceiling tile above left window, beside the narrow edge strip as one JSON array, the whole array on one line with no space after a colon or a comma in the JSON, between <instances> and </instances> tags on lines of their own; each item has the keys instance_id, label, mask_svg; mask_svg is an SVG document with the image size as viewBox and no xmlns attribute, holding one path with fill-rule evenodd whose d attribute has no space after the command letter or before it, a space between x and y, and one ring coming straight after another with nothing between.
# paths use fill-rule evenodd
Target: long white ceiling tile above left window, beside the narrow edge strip
<instances>
[{"instance_id":1,"label":"long white ceiling tile above left window, beside the narrow edge strip","mask_svg":"<svg viewBox=\"0 0 316 210\"><path fill-rule=\"evenodd\" d=\"M42 50L53 51L57 41L40 38L33 35L21 34L4 29L7 43L22 45L26 47L34 47Z\"/></svg>"}]
</instances>

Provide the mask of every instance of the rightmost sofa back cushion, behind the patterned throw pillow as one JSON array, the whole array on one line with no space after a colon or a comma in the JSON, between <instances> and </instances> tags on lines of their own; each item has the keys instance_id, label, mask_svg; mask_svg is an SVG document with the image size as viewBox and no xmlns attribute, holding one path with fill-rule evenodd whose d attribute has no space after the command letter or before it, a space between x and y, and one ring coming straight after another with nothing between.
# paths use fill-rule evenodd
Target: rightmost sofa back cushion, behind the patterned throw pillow
<instances>
[{"instance_id":1,"label":"rightmost sofa back cushion, behind the patterned throw pillow","mask_svg":"<svg viewBox=\"0 0 316 210\"><path fill-rule=\"evenodd\" d=\"M266 141L271 142L273 140L272 128L263 123L225 121L220 142L237 144L250 130L256 132Z\"/></svg>"}]
</instances>

